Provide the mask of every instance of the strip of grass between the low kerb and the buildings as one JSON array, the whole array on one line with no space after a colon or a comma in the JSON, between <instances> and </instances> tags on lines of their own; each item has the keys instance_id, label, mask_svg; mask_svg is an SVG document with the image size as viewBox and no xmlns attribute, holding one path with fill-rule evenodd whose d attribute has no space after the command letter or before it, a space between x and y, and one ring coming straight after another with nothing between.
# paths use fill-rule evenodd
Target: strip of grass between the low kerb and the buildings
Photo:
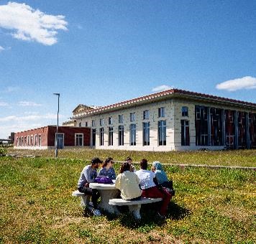
<instances>
[{"instance_id":1,"label":"strip of grass between the low kerb and the buildings","mask_svg":"<svg viewBox=\"0 0 256 244\"><path fill-rule=\"evenodd\" d=\"M8 149L9 154L54 157L54 150L15 150ZM116 161L124 161L131 156L134 162L145 158L148 161L160 161L163 164L207 164L222 166L256 166L256 150L233 151L119 151L95 149L58 150L59 158L90 160L93 156L106 159L111 156Z\"/></svg>"}]
</instances>

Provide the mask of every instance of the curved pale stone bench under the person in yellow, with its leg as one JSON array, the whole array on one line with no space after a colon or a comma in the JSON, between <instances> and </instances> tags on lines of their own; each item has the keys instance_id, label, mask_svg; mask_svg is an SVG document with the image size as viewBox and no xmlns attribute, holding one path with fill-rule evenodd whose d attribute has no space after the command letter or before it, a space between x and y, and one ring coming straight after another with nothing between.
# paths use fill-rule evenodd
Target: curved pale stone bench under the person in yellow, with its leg
<instances>
[{"instance_id":1,"label":"curved pale stone bench under the person in yellow, with its leg","mask_svg":"<svg viewBox=\"0 0 256 244\"><path fill-rule=\"evenodd\" d=\"M140 216L140 208L141 205L144 204L149 204L153 202L160 202L162 201L162 198L147 198L147 197L141 197L140 200L123 200L122 198L113 198L109 200L110 205L115 205L115 206L128 206L129 207L129 212L132 212L132 215L137 220L141 219Z\"/></svg>"}]
</instances>

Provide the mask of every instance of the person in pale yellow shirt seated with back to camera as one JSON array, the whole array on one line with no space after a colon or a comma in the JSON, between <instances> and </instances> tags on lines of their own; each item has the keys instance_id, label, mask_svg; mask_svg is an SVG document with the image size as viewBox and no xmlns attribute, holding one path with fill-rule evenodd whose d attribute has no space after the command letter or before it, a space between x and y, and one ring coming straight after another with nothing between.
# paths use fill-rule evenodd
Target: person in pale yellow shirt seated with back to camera
<instances>
[{"instance_id":1,"label":"person in pale yellow shirt seated with back to camera","mask_svg":"<svg viewBox=\"0 0 256 244\"><path fill-rule=\"evenodd\" d=\"M115 187L121 191L122 199L138 200L142 194L139 187L140 179L130 170L129 163L122 164L120 174L116 177Z\"/></svg>"}]
</instances>

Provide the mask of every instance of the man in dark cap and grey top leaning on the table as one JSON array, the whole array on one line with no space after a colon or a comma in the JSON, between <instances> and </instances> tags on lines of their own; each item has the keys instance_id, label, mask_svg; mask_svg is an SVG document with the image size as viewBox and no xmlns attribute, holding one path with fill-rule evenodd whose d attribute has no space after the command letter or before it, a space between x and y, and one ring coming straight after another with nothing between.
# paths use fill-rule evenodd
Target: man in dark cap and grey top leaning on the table
<instances>
[{"instance_id":1,"label":"man in dark cap and grey top leaning on the table","mask_svg":"<svg viewBox=\"0 0 256 244\"><path fill-rule=\"evenodd\" d=\"M81 176L78 180L78 191L83 192L86 195L91 195L91 202L93 202L93 215L99 216L101 212L98 210L97 201L100 197L97 189L91 189L89 184L94 182L97 177L97 169L99 169L99 164L102 164L101 159L93 158L91 159L91 164L83 168Z\"/></svg>"}]
</instances>

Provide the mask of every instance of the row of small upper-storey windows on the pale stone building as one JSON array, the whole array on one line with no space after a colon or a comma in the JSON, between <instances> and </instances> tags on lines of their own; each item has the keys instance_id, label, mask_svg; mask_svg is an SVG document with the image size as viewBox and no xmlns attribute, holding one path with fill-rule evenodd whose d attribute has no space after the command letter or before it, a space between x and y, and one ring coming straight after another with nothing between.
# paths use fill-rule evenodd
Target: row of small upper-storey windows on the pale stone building
<instances>
[{"instance_id":1,"label":"row of small upper-storey windows on the pale stone building","mask_svg":"<svg viewBox=\"0 0 256 244\"><path fill-rule=\"evenodd\" d=\"M188 107L183 106L181 108L181 116L188 116ZM150 118L150 111L149 110L143 111L143 120L148 120L149 118ZM164 107L158 108L158 118L165 118L165 108ZM135 112L129 113L129 121L134 122L135 120L136 120ZM113 125L113 123L114 123L113 117L109 117L108 124ZM118 123L124 123L124 115L123 114L119 114ZM86 122L86 124L87 124L87 122ZM81 126L81 123L79 124L79 126ZM99 119L99 126L104 126L104 118ZM95 120L91 121L91 127L96 127Z\"/></svg>"}]
</instances>

